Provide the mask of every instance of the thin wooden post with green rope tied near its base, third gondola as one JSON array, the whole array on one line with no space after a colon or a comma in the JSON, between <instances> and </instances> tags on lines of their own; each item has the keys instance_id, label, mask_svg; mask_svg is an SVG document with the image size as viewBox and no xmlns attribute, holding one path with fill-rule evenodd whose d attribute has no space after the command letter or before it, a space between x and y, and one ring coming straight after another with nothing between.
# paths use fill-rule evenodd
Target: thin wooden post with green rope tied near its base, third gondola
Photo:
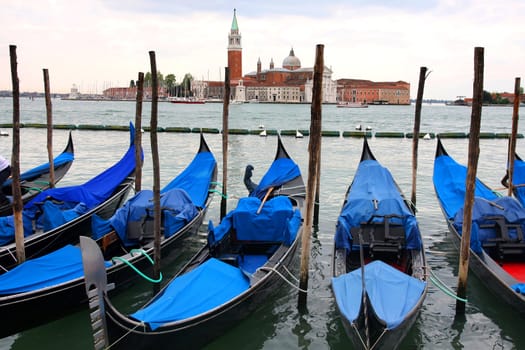
<instances>
[{"instance_id":1,"label":"thin wooden post with green rope tied near its base, third gondola","mask_svg":"<svg viewBox=\"0 0 525 350\"><path fill-rule=\"evenodd\" d=\"M157 140L157 103L159 94L159 83L157 80L157 62L155 60L155 51L149 52L151 62L151 158L153 159L153 251L155 254L153 275L155 279L160 277L160 166L159 166L159 145ZM138 131L140 132L140 131ZM159 285L155 284L155 289Z\"/></svg>"}]
</instances>

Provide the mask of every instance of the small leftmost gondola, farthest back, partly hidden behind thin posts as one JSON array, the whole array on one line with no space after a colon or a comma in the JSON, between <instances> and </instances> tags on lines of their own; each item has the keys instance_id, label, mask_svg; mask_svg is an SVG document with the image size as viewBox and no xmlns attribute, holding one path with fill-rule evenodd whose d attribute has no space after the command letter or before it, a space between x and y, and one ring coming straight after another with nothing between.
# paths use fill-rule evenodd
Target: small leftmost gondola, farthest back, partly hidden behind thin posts
<instances>
[{"instance_id":1,"label":"small leftmost gondola, farthest back, partly hidden behind thin posts","mask_svg":"<svg viewBox=\"0 0 525 350\"><path fill-rule=\"evenodd\" d=\"M58 183L64 175L68 172L73 160L75 159L75 151L73 148L73 138L71 132L66 148L53 159L53 167L55 172L55 184ZM20 190L22 192L22 203L29 202L37 194L47 190L50 187L49 183L49 163L41 164L33 169L27 170L20 174ZM12 195L12 180L9 179L2 185L2 191L5 195ZM0 216L6 216L13 213L13 206L10 204L0 205Z\"/></svg>"}]
</instances>

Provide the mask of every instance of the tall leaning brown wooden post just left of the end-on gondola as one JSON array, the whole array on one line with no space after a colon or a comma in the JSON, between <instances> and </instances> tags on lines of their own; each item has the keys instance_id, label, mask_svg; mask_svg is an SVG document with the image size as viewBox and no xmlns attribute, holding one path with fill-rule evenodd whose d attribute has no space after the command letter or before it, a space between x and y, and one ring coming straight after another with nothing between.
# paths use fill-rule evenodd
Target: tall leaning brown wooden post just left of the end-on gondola
<instances>
[{"instance_id":1,"label":"tall leaning brown wooden post just left of the end-on gondola","mask_svg":"<svg viewBox=\"0 0 525 350\"><path fill-rule=\"evenodd\" d=\"M310 140L308 142L308 181L306 188L306 215L303 224L301 241L301 275L299 278L299 308L306 306L306 291L308 289L308 266L310 259L310 238L312 235L312 211L315 190L318 180L319 158L321 156L321 103L324 69L324 45L317 45L314 66L314 85L312 90L312 106L310 121Z\"/></svg>"}]
</instances>

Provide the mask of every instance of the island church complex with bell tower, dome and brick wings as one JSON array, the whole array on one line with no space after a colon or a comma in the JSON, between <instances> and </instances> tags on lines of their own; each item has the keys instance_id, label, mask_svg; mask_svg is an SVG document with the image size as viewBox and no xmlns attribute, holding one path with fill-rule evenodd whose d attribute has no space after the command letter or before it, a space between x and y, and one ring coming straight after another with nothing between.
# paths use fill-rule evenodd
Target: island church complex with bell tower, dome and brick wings
<instances>
[{"instance_id":1,"label":"island church complex with bell tower, dome and brick wings","mask_svg":"<svg viewBox=\"0 0 525 350\"><path fill-rule=\"evenodd\" d=\"M259 58L256 70L242 72L242 37L234 10L228 34L228 67L230 72L230 100L232 102L311 103L313 68L303 68L293 48L275 67L273 58L267 68ZM362 102L366 104L410 104L410 84L404 81L373 82L370 80L332 80L332 69L324 67L323 103ZM193 81L193 95L201 99L222 100L224 82Z\"/></svg>"}]
</instances>

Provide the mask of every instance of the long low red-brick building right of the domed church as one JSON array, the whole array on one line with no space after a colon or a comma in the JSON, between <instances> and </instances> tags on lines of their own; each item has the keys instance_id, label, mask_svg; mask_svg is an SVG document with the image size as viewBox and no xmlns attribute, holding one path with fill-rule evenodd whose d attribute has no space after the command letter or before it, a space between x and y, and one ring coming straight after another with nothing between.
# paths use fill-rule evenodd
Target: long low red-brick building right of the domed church
<instances>
[{"instance_id":1,"label":"long low red-brick building right of the domed church","mask_svg":"<svg viewBox=\"0 0 525 350\"><path fill-rule=\"evenodd\" d=\"M410 84L404 81L374 82L361 79L337 80L337 100L365 104L410 104Z\"/></svg>"}]
</instances>

